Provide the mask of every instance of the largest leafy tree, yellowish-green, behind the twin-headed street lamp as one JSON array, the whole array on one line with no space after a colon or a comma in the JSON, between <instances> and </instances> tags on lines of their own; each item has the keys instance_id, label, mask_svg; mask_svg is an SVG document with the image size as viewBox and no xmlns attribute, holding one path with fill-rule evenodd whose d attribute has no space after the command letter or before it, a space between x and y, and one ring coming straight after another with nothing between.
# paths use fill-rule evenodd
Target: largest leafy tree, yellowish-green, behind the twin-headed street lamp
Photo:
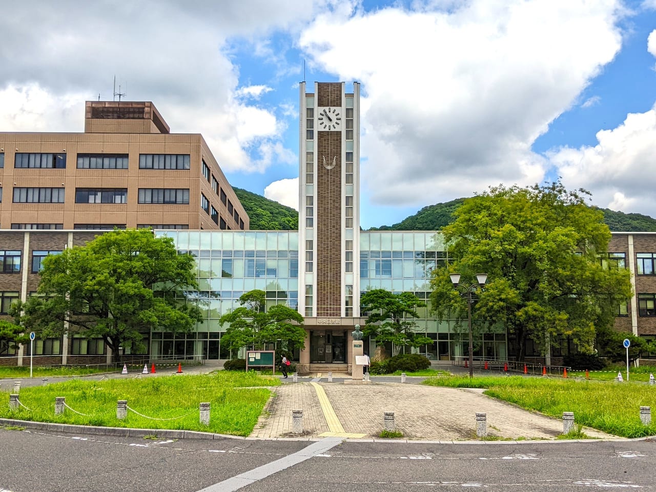
<instances>
[{"instance_id":1,"label":"largest leafy tree, yellowish-green, behind the twin-headed street lamp","mask_svg":"<svg viewBox=\"0 0 656 492\"><path fill-rule=\"evenodd\" d=\"M462 274L465 283L486 273L474 325L503 323L516 337L520 360L529 337L543 350L559 337L592 350L596 330L612 327L631 287L628 270L602 266L611 234L602 211L586 206L588 195L554 182L499 186L466 199L443 229L451 260L432 280L438 316L466 319L449 273Z\"/></svg>"}]
</instances>

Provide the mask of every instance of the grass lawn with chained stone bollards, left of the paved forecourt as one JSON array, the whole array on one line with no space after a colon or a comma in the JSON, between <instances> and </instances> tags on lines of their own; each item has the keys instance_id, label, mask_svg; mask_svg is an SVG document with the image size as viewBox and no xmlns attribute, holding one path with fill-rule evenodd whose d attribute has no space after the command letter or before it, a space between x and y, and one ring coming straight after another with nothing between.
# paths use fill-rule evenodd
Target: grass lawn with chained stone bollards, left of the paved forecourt
<instances>
[{"instance_id":1,"label":"grass lawn with chained stone bollards, left of the paved forecourt","mask_svg":"<svg viewBox=\"0 0 656 492\"><path fill-rule=\"evenodd\" d=\"M275 378L219 371L211 375L163 376L104 381L69 380L21 388L18 410L9 409L9 392L0 392L0 417L65 424L153 429L184 429L248 436L271 394ZM242 389L243 388L243 389ZM54 415L54 398L66 397L64 415ZM127 400L125 420L116 419L116 401ZM2 403L4 401L5 403ZM199 422L199 403L211 403L210 423ZM166 420L171 419L171 420Z\"/></svg>"}]
</instances>

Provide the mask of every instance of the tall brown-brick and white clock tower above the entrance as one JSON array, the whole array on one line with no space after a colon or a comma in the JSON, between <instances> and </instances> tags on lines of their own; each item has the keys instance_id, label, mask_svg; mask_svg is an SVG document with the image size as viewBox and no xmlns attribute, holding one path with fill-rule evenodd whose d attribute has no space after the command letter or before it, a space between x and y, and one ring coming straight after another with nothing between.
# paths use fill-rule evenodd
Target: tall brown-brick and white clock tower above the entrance
<instances>
[{"instance_id":1,"label":"tall brown-brick and white clock tower above the entrance","mask_svg":"<svg viewBox=\"0 0 656 492\"><path fill-rule=\"evenodd\" d=\"M359 83L346 89L300 83L298 306L306 325L352 326L359 317Z\"/></svg>"}]
</instances>

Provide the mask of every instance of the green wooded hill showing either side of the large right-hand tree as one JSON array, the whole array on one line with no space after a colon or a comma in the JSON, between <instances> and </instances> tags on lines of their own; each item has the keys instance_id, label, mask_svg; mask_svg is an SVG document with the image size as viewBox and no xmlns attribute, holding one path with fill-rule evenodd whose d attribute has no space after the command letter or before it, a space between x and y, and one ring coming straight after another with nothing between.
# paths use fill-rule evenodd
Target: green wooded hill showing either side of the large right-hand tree
<instances>
[{"instance_id":1,"label":"green wooded hill showing either side of the large right-hand tree","mask_svg":"<svg viewBox=\"0 0 656 492\"><path fill-rule=\"evenodd\" d=\"M392 226L372 227L369 230L392 231L434 231L440 230L453 221L453 212L462 205L464 198L436 203L422 208L415 215L404 218ZM613 232L652 232L656 231L656 219L641 214L625 214L609 209L602 209L604 222Z\"/></svg>"}]
</instances>

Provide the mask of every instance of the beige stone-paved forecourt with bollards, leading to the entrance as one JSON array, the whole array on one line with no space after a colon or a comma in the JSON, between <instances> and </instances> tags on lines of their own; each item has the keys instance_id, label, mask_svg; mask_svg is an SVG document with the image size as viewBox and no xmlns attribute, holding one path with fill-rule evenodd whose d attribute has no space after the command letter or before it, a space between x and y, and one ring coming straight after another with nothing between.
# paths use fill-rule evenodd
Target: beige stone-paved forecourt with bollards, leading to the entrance
<instances>
[{"instance_id":1,"label":"beige stone-paved forecourt with bollards, leading to the entrance","mask_svg":"<svg viewBox=\"0 0 656 492\"><path fill-rule=\"evenodd\" d=\"M413 378L407 378L410 382ZM504 439L548 439L562 433L560 419L531 413L482 394L483 390L440 388L400 382L348 385L340 381L319 382L331 409L322 408L312 382L287 383L272 388L264 416L251 438L289 438L292 410L303 410L304 436L376 438L383 430L383 412L393 411L396 429L409 440L461 441L476 439L476 412L487 414L489 436ZM343 433L331 432L334 411ZM584 428L594 438L613 438Z\"/></svg>"}]
</instances>

